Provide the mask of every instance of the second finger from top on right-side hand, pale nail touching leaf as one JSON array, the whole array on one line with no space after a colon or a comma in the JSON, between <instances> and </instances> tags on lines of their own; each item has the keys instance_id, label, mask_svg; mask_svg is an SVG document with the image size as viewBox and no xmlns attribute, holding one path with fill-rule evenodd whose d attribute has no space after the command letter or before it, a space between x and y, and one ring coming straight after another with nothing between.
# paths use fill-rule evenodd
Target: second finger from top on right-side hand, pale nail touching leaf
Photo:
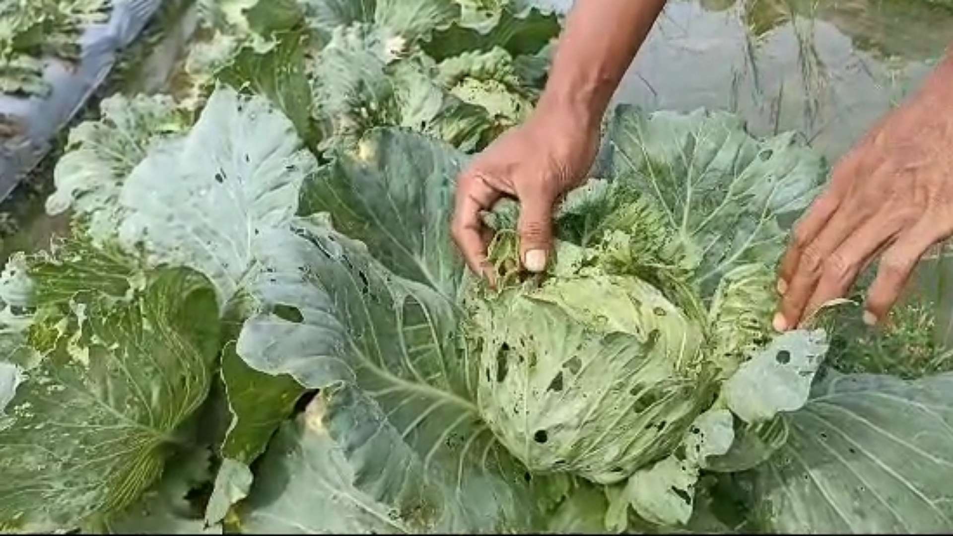
<instances>
[{"instance_id":1,"label":"second finger from top on right-side hand, pale nail touching leaf","mask_svg":"<svg viewBox=\"0 0 953 536\"><path fill-rule=\"evenodd\" d=\"M823 273L825 260L861 225L861 218L856 211L836 212L820 234L801 250L787 292L781 298L781 310L773 321L776 329L785 331L801 322L807 300L814 295Z\"/></svg>"}]
</instances>

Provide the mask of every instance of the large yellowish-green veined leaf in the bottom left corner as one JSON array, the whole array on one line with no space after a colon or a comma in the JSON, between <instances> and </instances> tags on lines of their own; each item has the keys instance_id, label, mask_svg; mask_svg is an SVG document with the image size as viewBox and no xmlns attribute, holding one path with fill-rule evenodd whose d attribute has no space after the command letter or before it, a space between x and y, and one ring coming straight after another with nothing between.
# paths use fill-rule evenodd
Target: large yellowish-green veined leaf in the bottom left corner
<instances>
[{"instance_id":1,"label":"large yellowish-green veined leaf in the bottom left corner","mask_svg":"<svg viewBox=\"0 0 953 536\"><path fill-rule=\"evenodd\" d=\"M88 292L42 311L30 343L46 355L0 430L8 530L70 528L130 505L204 402L217 355L213 292L191 272L161 272L128 302Z\"/></svg>"}]
</instances>

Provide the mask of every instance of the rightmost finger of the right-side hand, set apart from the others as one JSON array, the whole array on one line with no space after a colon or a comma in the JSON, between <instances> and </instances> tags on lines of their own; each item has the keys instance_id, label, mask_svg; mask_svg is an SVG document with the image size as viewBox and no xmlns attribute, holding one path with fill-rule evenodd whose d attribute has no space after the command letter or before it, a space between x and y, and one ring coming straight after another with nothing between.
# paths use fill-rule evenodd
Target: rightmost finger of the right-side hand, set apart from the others
<instances>
[{"instance_id":1,"label":"rightmost finger of the right-side hand, set apart from the others","mask_svg":"<svg viewBox=\"0 0 953 536\"><path fill-rule=\"evenodd\" d=\"M883 253L877 277L867 291L863 312L867 324L874 325L886 317L926 250L949 235L949 230L931 224L932 221L935 220L923 218Z\"/></svg>"}]
</instances>

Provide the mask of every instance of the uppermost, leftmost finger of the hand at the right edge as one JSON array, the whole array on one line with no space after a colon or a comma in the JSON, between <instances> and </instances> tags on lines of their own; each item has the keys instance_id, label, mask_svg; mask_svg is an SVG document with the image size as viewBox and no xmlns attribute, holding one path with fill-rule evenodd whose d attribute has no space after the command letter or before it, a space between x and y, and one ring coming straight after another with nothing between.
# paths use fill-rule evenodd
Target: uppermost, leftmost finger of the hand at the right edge
<instances>
[{"instance_id":1,"label":"uppermost, leftmost finger of the hand at the right edge","mask_svg":"<svg viewBox=\"0 0 953 536\"><path fill-rule=\"evenodd\" d=\"M844 194L850 189L850 183L860 169L860 161L854 155L845 156L835 167L827 191L811 203L810 208L801 217L794 228L791 245L784 252L778 269L778 292L783 295L803 254L804 248L821 233L827 221L841 206Z\"/></svg>"}]
</instances>

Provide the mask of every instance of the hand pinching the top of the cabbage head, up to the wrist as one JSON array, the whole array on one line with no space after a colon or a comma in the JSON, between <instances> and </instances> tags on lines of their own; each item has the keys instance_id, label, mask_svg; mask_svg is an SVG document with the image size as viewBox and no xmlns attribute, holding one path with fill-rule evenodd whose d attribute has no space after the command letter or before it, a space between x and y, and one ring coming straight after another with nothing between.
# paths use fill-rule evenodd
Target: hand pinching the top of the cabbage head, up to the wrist
<instances>
[{"instance_id":1,"label":"hand pinching the top of the cabbage head, up to the wrist","mask_svg":"<svg viewBox=\"0 0 953 536\"><path fill-rule=\"evenodd\" d=\"M501 135L458 177L451 232L467 265L490 278L492 237L480 213L504 197L519 201L519 258L541 272L552 247L553 210L578 186L598 151L599 121L570 107L540 106L529 120Z\"/></svg>"}]
</instances>

